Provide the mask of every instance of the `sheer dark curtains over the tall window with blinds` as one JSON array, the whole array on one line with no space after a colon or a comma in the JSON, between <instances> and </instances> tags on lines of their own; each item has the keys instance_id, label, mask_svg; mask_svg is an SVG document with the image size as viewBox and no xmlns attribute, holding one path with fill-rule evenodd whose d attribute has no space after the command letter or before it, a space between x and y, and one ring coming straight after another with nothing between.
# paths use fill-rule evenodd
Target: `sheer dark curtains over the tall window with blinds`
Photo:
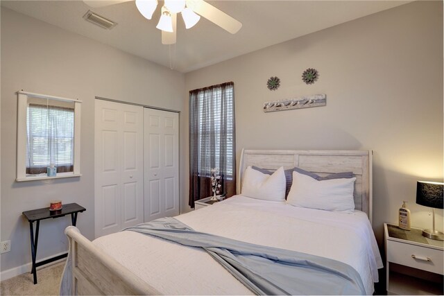
<instances>
[{"instance_id":1,"label":"sheer dark curtains over the tall window with blinds","mask_svg":"<svg viewBox=\"0 0 444 296\"><path fill-rule=\"evenodd\" d=\"M221 193L236 194L234 83L189 92L189 206L212 195L211 168L219 168Z\"/></svg>"}]
</instances>

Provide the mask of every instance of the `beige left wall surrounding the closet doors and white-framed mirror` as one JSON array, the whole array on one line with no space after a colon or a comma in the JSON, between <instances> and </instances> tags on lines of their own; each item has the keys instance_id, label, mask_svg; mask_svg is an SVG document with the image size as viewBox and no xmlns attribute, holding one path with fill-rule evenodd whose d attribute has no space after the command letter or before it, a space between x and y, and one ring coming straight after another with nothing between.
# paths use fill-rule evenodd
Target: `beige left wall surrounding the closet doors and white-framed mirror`
<instances>
[{"instance_id":1,"label":"beige left wall surrounding the closet doors and white-framed mirror","mask_svg":"<svg viewBox=\"0 0 444 296\"><path fill-rule=\"evenodd\" d=\"M82 177L15 182L19 89L83 100ZM48 207L50 200L85 207L78 227L94 238L94 96L182 111L184 89L182 73L1 8L1 241L12 247L1 254L1 270L31 262L22 211ZM39 259L67 250L63 229L70 223L68 216L42 221Z\"/></svg>"}]
</instances>

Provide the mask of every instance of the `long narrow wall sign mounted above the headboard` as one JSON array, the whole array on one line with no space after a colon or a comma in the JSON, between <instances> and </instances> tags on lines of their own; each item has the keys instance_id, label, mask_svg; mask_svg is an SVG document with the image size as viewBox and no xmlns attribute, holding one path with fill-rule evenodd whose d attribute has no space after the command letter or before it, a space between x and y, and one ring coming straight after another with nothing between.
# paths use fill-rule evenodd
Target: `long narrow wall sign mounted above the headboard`
<instances>
[{"instance_id":1,"label":"long narrow wall sign mounted above the headboard","mask_svg":"<svg viewBox=\"0 0 444 296\"><path fill-rule=\"evenodd\" d=\"M312 96L300 96L289 100L266 102L264 103L264 112L321 107L326 105L326 100L325 94L314 94Z\"/></svg>"}]
</instances>

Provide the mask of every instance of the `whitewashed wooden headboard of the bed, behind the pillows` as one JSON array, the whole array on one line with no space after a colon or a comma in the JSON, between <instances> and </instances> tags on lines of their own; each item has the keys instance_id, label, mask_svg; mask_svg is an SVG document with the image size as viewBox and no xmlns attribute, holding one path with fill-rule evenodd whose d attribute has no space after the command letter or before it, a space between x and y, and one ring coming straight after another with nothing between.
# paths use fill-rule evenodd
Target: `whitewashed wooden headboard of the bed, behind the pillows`
<instances>
[{"instance_id":1,"label":"whitewashed wooden headboard of the bed, behind the pillows","mask_svg":"<svg viewBox=\"0 0 444 296\"><path fill-rule=\"evenodd\" d=\"M241 193L242 177L248 166L268 170L298 166L324 176L353 172L355 209L364 211L372 223L372 151L362 150L242 150L237 193Z\"/></svg>"}]
</instances>

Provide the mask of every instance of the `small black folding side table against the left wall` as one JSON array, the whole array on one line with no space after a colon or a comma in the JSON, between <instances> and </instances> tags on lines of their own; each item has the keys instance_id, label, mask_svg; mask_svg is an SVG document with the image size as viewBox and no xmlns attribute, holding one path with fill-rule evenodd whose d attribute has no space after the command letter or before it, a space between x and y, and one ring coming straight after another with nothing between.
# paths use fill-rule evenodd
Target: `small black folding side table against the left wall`
<instances>
[{"instance_id":1,"label":"small black folding side table against the left wall","mask_svg":"<svg viewBox=\"0 0 444 296\"><path fill-rule=\"evenodd\" d=\"M57 261L59 259L65 258L68 256L68 253L61 254L58 256L54 256L52 258L46 259L44 261L35 262L35 258L37 256L37 243L39 241L39 227L40 220L49 219L49 218L59 218L63 217L67 214L71 214L71 223L73 226L76 226L77 222L77 214L78 212L86 211L84 207L79 206L76 203L72 204L63 204L62 209L58 211L49 211L49 207L45 207L42 209L33 209L31 211L24 211L22 214L29 221L29 230L31 234L31 255L33 257L33 266L31 268L31 273L34 276L34 284L37 284L37 272L36 268L47 263L51 263L53 261ZM34 222L37 222L35 227L35 236L34 236Z\"/></svg>"}]
</instances>

